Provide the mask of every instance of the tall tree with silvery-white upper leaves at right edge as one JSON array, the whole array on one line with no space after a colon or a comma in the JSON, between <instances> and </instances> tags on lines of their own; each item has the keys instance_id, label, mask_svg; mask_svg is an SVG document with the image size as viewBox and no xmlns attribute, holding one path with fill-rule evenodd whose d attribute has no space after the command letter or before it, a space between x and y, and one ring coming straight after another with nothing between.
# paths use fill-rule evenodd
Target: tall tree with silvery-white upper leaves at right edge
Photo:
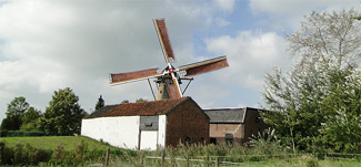
<instances>
[{"instance_id":1,"label":"tall tree with silvery-white upper leaves at right edge","mask_svg":"<svg viewBox=\"0 0 361 167\"><path fill-rule=\"evenodd\" d=\"M262 93L270 109L267 123L283 143L304 150L361 150L355 136L361 127L361 27L355 15L353 10L312 12L287 35L299 62L285 75L280 69L268 73Z\"/></svg>"}]
</instances>

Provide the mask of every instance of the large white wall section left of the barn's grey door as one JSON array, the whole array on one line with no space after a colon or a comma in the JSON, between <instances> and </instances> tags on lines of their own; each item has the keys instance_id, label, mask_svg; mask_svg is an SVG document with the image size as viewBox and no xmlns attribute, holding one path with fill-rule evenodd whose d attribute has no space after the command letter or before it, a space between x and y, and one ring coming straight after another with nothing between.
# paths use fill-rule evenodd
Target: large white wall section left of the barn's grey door
<instances>
[{"instance_id":1,"label":"large white wall section left of the barn's grey door","mask_svg":"<svg viewBox=\"0 0 361 167\"><path fill-rule=\"evenodd\" d=\"M102 139L112 146L137 149L140 116L82 119L81 135Z\"/></svg>"}]
</instances>

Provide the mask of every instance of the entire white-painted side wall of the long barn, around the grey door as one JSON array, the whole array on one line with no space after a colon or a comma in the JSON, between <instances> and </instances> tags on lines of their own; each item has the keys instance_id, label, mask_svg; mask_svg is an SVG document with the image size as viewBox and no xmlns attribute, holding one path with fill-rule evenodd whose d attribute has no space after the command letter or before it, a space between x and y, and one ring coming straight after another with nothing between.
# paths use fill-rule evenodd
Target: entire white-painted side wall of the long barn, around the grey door
<instances>
[{"instance_id":1,"label":"entire white-painted side wall of the long barn, around the grey door","mask_svg":"<svg viewBox=\"0 0 361 167\"><path fill-rule=\"evenodd\" d=\"M137 149L140 116L117 116L82 119L81 135L109 143L120 148ZM167 116L159 115L157 131L143 131L141 149L157 149L166 146Z\"/></svg>"}]
</instances>

